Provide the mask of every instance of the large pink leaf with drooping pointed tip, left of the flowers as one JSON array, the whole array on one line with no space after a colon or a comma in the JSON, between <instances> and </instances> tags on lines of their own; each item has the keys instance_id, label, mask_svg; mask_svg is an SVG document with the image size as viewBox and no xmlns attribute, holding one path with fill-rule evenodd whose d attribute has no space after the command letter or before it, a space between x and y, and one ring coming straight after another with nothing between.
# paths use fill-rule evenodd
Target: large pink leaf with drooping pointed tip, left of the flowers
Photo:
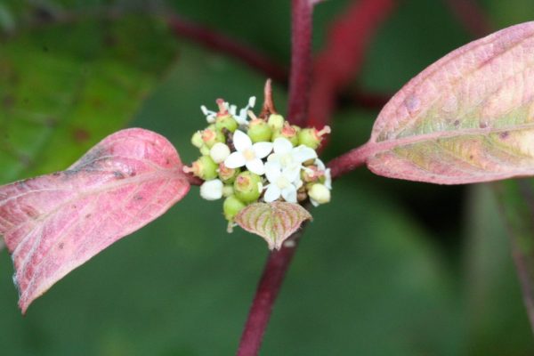
<instances>
[{"instance_id":1,"label":"large pink leaf with drooping pointed tip, left of the flowers","mask_svg":"<svg viewBox=\"0 0 534 356\"><path fill-rule=\"evenodd\" d=\"M0 233L12 254L22 312L189 189L173 145L140 128L109 135L66 171L0 187Z\"/></svg>"}]
</instances>

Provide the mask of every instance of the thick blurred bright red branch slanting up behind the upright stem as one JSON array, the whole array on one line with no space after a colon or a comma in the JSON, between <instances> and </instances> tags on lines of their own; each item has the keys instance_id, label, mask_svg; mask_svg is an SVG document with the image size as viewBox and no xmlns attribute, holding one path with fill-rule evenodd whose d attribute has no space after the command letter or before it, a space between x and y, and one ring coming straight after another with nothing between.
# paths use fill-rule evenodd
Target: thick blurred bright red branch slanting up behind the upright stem
<instances>
[{"instance_id":1,"label":"thick blurred bright red branch slanting up behind the upright stem","mask_svg":"<svg viewBox=\"0 0 534 356\"><path fill-rule=\"evenodd\" d=\"M337 94L360 72L369 41L395 4L395 0L354 2L330 28L328 45L313 71L309 125L321 128L328 124Z\"/></svg>"}]
</instances>

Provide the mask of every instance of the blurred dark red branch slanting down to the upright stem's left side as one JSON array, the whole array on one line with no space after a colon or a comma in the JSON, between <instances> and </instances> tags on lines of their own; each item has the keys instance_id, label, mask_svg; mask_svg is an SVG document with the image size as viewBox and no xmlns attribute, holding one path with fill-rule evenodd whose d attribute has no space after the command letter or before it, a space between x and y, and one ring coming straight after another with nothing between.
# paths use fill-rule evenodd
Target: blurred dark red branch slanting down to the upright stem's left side
<instances>
[{"instance_id":1,"label":"blurred dark red branch slanting down to the upright stem's left side","mask_svg":"<svg viewBox=\"0 0 534 356\"><path fill-rule=\"evenodd\" d=\"M210 50L237 58L252 69L262 72L265 77L271 77L280 83L285 83L287 80L287 69L271 61L265 54L259 53L229 36L221 35L210 28L184 20L178 15L168 16L167 23L177 36L189 38L198 44L205 45Z\"/></svg>"}]
</instances>

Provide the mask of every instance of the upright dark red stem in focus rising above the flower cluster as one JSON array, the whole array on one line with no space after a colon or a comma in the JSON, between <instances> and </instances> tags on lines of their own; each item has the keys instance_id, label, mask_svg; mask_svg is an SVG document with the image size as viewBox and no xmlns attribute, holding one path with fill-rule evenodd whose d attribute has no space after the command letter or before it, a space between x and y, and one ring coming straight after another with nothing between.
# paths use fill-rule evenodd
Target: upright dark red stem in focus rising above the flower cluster
<instances>
[{"instance_id":1,"label":"upright dark red stem in focus rising above the flower cluster","mask_svg":"<svg viewBox=\"0 0 534 356\"><path fill-rule=\"evenodd\" d=\"M289 77L288 120L303 126L308 120L312 77L311 0L293 0L291 6L291 74Z\"/></svg>"}]
</instances>

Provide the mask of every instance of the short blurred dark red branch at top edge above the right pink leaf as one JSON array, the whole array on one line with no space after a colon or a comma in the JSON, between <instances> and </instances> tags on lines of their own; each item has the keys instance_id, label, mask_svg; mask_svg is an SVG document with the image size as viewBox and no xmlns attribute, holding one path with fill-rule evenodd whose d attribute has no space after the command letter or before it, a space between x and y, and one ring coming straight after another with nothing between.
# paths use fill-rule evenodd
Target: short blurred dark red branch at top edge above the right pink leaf
<instances>
[{"instance_id":1,"label":"short blurred dark red branch at top edge above the right pink leaf","mask_svg":"<svg viewBox=\"0 0 534 356\"><path fill-rule=\"evenodd\" d=\"M445 2L474 37L486 36L492 32L490 20L476 0L446 0Z\"/></svg>"}]
</instances>

